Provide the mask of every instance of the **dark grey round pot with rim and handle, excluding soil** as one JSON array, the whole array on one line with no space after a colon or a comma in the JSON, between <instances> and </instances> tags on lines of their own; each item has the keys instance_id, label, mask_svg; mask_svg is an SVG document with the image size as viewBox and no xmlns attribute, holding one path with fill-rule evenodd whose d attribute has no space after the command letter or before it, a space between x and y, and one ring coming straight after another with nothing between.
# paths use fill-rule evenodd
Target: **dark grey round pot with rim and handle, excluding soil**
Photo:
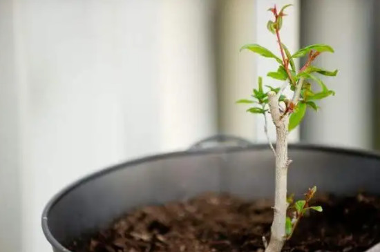
<instances>
[{"instance_id":1,"label":"dark grey round pot with rim and handle, excluding soil","mask_svg":"<svg viewBox=\"0 0 380 252\"><path fill-rule=\"evenodd\" d=\"M215 140L233 140L238 146L203 148ZM380 155L297 144L289 146L289 157L288 191L296 195L313 185L336 195L359 190L380 194ZM137 206L184 200L205 191L272 198L273 153L267 144L218 136L189 151L126 162L61 191L46 206L42 228L53 251L68 252L61 245L64 241L101 229Z\"/></svg>"}]
</instances>

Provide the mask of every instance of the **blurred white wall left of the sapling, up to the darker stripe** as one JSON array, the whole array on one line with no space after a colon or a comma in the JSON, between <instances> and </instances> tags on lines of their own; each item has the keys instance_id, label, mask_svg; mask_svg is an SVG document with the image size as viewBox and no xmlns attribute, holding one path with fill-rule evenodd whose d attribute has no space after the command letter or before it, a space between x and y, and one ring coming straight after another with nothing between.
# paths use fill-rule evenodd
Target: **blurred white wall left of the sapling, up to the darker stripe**
<instances>
[{"instance_id":1,"label":"blurred white wall left of the sapling, up to the darker stripe","mask_svg":"<svg viewBox=\"0 0 380 252\"><path fill-rule=\"evenodd\" d=\"M202 1L186 2L171 19L170 1L1 1L1 251L50 251L41 211L73 180L216 133L208 21ZM163 57L173 42L162 28L176 39L193 16L189 50Z\"/></svg>"}]
</instances>

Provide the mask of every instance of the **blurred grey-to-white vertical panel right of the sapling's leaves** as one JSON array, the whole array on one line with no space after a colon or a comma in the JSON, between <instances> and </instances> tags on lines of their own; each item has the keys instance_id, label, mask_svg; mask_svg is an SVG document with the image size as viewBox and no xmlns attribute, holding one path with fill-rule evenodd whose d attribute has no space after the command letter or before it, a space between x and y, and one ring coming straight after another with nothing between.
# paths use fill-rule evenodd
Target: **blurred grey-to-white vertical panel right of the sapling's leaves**
<instances>
[{"instance_id":1,"label":"blurred grey-to-white vertical panel right of the sapling's leaves","mask_svg":"<svg viewBox=\"0 0 380 252\"><path fill-rule=\"evenodd\" d=\"M372 57L379 48L372 43L373 7L374 1L301 1L301 46L330 44L335 53L321 55L316 64L339 69L337 77L323 78L336 95L321 101L318 113L307 112L301 134L306 142L372 148Z\"/></svg>"}]
</instances>

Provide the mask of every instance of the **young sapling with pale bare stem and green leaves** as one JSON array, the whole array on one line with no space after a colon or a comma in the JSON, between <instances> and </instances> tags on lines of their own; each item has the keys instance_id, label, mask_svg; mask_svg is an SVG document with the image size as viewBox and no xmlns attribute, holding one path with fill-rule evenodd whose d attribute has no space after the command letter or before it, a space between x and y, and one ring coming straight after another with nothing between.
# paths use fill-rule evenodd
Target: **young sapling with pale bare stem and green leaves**
<instances>
[{"instance_id":1,"label":"young sapling with pale bare stem and green leaves","mask_svg":"<svg viewBox=\"0 0 380 252\"><path fill-rule=\"evenodd\" d=\"M287 137L289 131L301 123L307 108L318 110L319 107L316 101L334 95L334 91L329 90L316 74L331 77L336 76L338 72L338 70L329 71L312 65L316 57L319 57L322 52L334 52L331 46L314 44L292 54L281 42L280 30L283 17L286 16L284 11L289 6L291 5L283 6L279 12L276 6L269 8L269 11L274 15L274 20L268 21L267 28L269 32L276 36L281 57L256 43L247 44L240 49L251 50L260 56L276 60L279 65L278 69L274 72L268 72L267 76L284 81L283 86L279 88L266 86L269 88L269 92L266 92L263 87L263 79L258 77L258 88L253 90L251 99L237 101L240 104L253 105L247 109L247 112L264 116L265 134L276 159L274 219L271 238L265 248L266 252L281 251L285 241L292 237L294 229L306 211L322 211L321 206L310 206L310 200L316 193L316 186L305 193L305 200L293 202L292 197L287 198L287 169L292 162L287 155ZM294 59L301 57L307 57L306 63L301 69L297 70ZM319 90L316 90L314 86L319 86ZM292 97L287 97L283 94L283 91L288 87L294 91ZM272 122L276 126L276 148L269 140L267 113L270 114ZM290 215L287 216L287 213L290 213Z\"/></svg>"}]
</instances>

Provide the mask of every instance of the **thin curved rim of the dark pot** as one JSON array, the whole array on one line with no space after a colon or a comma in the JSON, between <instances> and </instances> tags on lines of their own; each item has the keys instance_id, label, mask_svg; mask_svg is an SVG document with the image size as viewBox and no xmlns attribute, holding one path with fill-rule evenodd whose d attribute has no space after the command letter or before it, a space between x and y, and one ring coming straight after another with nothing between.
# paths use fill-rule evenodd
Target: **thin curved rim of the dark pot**
<instances>
[{"instance_id":1,"label":"thin curved rim of the dark pot","mask_svg":"<svg viewBox=\"0 0 380 252\"><path fill-rule=\"evenodd\" d=\"M67 193L70 193L70 191L73 191L77 186L84 182L88 182L89 180L93 180L96 177L100 177L102 175L111 173L113 171L116 171L120 168L128 168L128 166L133 166L135 164L140 164L143 162L151 162L159 159L165 159L168 157L182 157L182 156L197 156L197 155L207 155L210 153L234 153L238 151L251 151L251 150L263 150L269 148L268 144L252 144L249 146L229 146L229 147L222 147L222 148L205 148L205 149L199 149L199 150L187 150L187 151L175 151L171 153L161 153L156 155L149 155L147 157L140 157L132 159L131 161L122 162L120 164L116 164L113 166L110 166L108 168L102 168L99 171L96 171L94 173L91 173L89 175L86 175L82 178L79 178L75 182L69 184L68 186L64 187L56 193L46 204L44 211L42 213L41 217L41 226L42 230L44 231L44 235L46 237L46 240L55 248L60 249L61 251L70 252L68 249L66 249L64 246L62 246L53 236L52 233L50 233L50 229L48 227L48 215L50 213L50 210L55 206L59 200L64 197ZM321 151L326 153L336 153L336 154L342 154L342 155L354 155L357 157L366 157L370 159L379 159L380 160L380 153L375 151L368 151L358 148L341 148L341 147L335 147L335 146L323 146L318 144L289 144L289 149L294 150L307 150L307 151Z\"/></svg>"}]
</instances>

